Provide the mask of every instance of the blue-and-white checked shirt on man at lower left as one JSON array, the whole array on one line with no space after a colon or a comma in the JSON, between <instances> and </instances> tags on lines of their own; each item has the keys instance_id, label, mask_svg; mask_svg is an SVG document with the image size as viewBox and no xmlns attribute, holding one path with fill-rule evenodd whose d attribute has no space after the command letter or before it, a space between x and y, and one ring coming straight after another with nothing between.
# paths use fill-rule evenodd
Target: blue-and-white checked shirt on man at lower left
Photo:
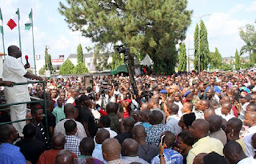
<instances>
[{"instance_id":1,"label":"blue-and-white checked shirt on man at lower left","mask_svg":"<svg viewBox=\"0 0 256 164\"><path fill-rule=\"evenodd\" d=\"M70 150L71 152L79 156L81 154L79 151L79 145L82 139L78 138L75 135L66 135L65 138L66 138L66 143L65 143L64 149Z\"/></svg>"}]
</instances>

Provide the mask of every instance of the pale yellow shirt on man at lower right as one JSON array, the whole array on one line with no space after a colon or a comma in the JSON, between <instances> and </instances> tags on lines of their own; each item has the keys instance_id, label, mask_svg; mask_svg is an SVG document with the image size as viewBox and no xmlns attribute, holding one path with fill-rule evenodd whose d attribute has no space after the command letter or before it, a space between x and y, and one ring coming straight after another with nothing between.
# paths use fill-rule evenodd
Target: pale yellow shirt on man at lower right
<instances>
[{"instance_id":1,"label":"pale yellow shirt on man at lower right","mask_svg":"<svg viewBox=\"0 0 256 164\"><path fill-rule=\"evenodd\" d=\"M201 153L216 152L223 156L223 144L221 141L215 138L210 138L209 136L201 138L198 142L195 142L186 157L187 164L193 164L195 156Z\"/></svg>"}]
</instances>

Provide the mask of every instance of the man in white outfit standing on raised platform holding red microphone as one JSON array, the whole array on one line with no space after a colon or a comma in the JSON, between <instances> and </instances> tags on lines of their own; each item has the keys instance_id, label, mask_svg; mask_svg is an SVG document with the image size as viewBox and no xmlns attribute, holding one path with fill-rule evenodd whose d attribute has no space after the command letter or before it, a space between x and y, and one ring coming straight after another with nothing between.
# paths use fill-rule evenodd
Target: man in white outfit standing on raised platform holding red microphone
<instances>
[{"instance_id":1,"label":"man in white outfit standing on raised platform holding red microphone","mask_svg":"<svg viewBox=\"0 0 256 164\"><path fill-rule=\"evenodd\" d=\"M2 80L11 82L27 82L27 78L36 79L42 81L42 78L34 74L30 74L26 68L30 67L30 64L23 66L22 62L18 58L22 57L22 51L18 46L8 47L8 56L3 64ZM30 94L27 85L5 87L4 94L6 96L7 103L17 102L30 102ZM17 121L26 118L26 104L20 104L10 106L10 119L11 121ZM22 136L22 130L26 122L13 123L13 126L18 133Z\"/></svg>"}]
</instances>

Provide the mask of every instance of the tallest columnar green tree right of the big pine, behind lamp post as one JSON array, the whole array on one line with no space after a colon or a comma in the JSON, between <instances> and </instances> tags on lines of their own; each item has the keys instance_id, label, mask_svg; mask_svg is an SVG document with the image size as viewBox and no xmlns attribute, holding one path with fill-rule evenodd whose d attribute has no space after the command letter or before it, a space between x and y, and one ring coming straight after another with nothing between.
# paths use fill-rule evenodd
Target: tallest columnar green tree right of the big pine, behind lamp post
<instances>
[{"instance_id":1,"label":"tallest columnar green tree right of the big pine, behind lamp post","mask_svg":"<svg viewBox=\"0 0 256 164\"><path fill-rule=\"evenodd\" d=\"M200 70L206 70L209 63L209 43L207 29L203 21L200 21ZM194 66L198 70L198 25L194 30Z\"/></svg>"}]
</instances>

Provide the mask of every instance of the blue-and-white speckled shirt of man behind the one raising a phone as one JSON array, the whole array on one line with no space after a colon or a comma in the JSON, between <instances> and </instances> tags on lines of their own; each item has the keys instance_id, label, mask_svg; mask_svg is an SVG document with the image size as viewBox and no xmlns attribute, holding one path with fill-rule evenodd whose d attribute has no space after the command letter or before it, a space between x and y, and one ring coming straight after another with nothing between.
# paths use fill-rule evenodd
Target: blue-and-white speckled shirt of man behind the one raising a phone
<instances>
[{"instance_id":1,"label":"blue-and-white speckled shirt of man behind the one raising a phone","mask_svg":"<svg viewBox=\"0 0 256 164\"><path fill-rule=\"evenodd\" d=\"M150 130L146 133L146 142L151 145L158 146L159 138L164 131L170 131L174 134L174 131L172 131L170 127L166 126L165 124L161 123L151 126Z\"/></svg>"}]
</instances>

